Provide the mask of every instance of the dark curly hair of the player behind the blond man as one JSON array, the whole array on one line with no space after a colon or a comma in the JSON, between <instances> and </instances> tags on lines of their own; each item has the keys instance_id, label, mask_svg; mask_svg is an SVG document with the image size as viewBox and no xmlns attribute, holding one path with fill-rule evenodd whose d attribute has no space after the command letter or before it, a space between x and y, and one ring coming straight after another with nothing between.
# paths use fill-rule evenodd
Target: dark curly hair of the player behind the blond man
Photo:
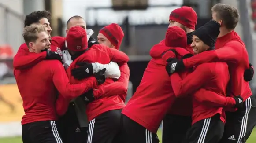
<instances>
[{"instance_id":1,"label":"dark curly hair of the player behind the blond man","mask_svg":"<svg viewBox=\"0 0 256 143\"><path fill-rule=\"evenodd\" d=\"M33 23L37 23L42 18L48 19L48 21L51 23L51 13L49 11L34 11L29 15L26 15L24 27L30 26Z\"/></svg>"}]
</instances>

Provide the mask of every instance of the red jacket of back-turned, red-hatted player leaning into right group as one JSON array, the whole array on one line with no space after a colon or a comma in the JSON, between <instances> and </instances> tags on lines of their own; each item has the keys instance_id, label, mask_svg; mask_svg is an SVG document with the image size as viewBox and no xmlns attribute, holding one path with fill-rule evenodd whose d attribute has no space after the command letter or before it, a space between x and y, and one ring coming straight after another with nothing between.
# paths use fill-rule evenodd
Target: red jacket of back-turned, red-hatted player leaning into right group
<instances>
[{"instance_id":1,"label":"red jacket of back-turned, red-hatted player leaning into right group","mask_svg":"<svg viewBox=\"0 0 256 143\"><path fill-rule=\"evenodd\" d=\"M163 117L175 100L170 77L165 70L166 61L160 56L163 53L161 49L166 47L160 44L156 47L159 49L156 50L158 56L151 55L152 59L145 69L140 85L122 110L122 114L153 133L157 132ZM183 50L182 48L176 49L180 53L188 53ZM174 58L175 54L168 52L168 56Z\"/></svg>"}]
</instances>

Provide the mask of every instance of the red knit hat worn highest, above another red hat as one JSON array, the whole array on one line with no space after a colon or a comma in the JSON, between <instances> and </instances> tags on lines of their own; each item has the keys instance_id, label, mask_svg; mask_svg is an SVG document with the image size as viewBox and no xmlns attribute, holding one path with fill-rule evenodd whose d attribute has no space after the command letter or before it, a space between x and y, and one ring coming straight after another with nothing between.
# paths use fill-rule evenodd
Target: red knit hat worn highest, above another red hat
<instances>
[{"instance_id":1,"label":"red knit hat worn highest, above another red hat","mask_svg":"<svg viewBox=\"0 0 256 143\"><path fill-rule=\"evenodd\" d=\"M192 7L183 6L171 11L169 21L170 20L179 22L189 29L195 30L195 26L197 24L197 13L193 10Z\"/></svg>"}]
</instances>

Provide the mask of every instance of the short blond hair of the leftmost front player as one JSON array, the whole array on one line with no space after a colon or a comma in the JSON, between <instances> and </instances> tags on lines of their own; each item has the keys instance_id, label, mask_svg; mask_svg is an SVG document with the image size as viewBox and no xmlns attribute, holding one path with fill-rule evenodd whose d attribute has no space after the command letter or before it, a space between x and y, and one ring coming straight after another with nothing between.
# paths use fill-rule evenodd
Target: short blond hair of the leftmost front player
<instances>
[{"instance_id":1,"label":"short blond hair of the leftmost front player","mask_svg":"<svg viewBox=\"0 0 256 143\"><path fill-rule=\"evenodd\" d=\"M35 42L38 38L38 34L41 32L47 33L46 27L41 24L32 24L24 27L22 36L26 45L29 47L30 42Z\"/></svg>"}]
</instances>

